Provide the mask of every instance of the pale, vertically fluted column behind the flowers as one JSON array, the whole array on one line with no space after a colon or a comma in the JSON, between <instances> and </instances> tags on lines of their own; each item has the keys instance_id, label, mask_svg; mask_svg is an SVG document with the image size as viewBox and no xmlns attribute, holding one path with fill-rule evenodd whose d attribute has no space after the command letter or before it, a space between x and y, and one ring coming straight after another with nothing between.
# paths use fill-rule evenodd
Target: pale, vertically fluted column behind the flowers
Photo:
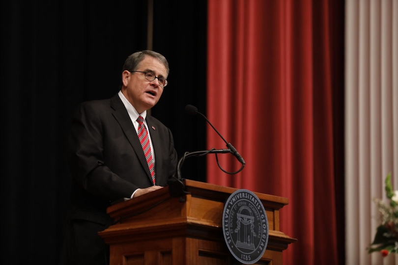
<instances>
[{"instance_id":1,"label":"pale, vertically fluted column behind the flowers","mask_svg":"<svg viewBox=\"0 0 398 265\"><path fill-rule=\"evenodd\" d=\"M398 264L367 250L380 224L372 199L386 199L388 173L398 189L398 1L345 8L346 264Z\"/></svg>"}]
</instances>

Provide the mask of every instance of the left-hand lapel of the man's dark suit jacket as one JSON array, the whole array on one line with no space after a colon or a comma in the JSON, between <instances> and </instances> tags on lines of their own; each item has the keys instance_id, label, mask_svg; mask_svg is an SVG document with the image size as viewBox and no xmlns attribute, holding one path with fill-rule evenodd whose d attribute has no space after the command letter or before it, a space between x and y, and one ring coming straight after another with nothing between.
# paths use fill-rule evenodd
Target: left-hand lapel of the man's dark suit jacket
<instances>
[{"instance_id":1,"label":"left-hand lapel of the man's dark suit jacket","mask_svg":"<svg viewBox=\"0 0 398 265\"><path fill-rule=\"evenodd\" d=\"M123 105L123 102L120 100L119 96L116 94L111 98L111 107L114 109L113 115L117 122L120 124L120 127L124 134L126 135L128 141L133 147L134 152L136 153L138 159L140 160L143 168L145 168L146 175L149 180L152 181L151 174L149 172L148 164L146 163L145 156L142 152L142 146L140 140L138 138L136 129L134 128L133 123L131 122L130 116L127 113L126 108ZM151 135L152 136L152 135Z\"/></svg>"}]
</instances>

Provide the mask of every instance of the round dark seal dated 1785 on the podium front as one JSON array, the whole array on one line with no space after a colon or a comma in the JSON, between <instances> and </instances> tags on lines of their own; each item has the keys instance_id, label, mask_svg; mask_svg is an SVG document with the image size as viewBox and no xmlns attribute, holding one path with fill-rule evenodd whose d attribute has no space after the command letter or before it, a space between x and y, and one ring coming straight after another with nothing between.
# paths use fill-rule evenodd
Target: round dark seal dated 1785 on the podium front
<instances>
[{"instance_id":1,"label":"round dark seal dated 1785 on the podium front","mask_svg":"<svg viewBox=\"0 0 398 265\"><path fill-rule=\"evenodd\" d=\"M260 199L247 189L238 189L227 199L223 233L229 252L243 264L254 264L268 243L268 219Z\"/></svg>"}]
</instances>

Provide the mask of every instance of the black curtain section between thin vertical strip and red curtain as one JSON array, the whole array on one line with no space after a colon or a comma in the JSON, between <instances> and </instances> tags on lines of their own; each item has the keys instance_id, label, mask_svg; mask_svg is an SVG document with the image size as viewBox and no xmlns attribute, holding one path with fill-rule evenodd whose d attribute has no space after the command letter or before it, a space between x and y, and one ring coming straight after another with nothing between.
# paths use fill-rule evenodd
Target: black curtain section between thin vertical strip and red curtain
<instances>
[{"instance_id":1,"label":"black curtain section between thin vertical strip and red curtain","mask_svg":"<svg viewBox=\"0 0 398 265\"><path fill-rule=\"evenodd\" d=\"M173 132L178 156L205 150L206 121L185 113L185 106L206 113L206 33L207 1L164 1L154 3L153 50L168 58L169 84L152 115ZM167 111L165 111L167 110ZM220 140L222 142L222 140ZM181 168L182 177L205 181L205 159L188 158Z\"/></svg>"}]
</instances>

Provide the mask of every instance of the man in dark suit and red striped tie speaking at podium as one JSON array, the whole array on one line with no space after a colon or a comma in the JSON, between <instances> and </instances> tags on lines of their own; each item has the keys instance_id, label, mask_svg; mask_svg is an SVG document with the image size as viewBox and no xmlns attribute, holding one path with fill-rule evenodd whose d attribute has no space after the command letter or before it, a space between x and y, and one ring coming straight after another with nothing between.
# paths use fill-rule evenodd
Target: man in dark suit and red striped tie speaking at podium
<instances>
[{"instance_id":1,"label":"man in dark suit and red striped tie speaking at podium","mask_svg":"<svg viewBox=\"0 0 398 265\"><path fill-rule=\"evenodd\" d=\"M162 188L175 173L171 131L146 115L162 96L168 75L163 55L133 53L124 63L118 94L77 108L68 139L73 181L60 264L108 264L109 247L97 234L113 223L107 208ZM138 117L149 132L146 157L138 137L142 126Z\"/></svg>"}]
</instances>

